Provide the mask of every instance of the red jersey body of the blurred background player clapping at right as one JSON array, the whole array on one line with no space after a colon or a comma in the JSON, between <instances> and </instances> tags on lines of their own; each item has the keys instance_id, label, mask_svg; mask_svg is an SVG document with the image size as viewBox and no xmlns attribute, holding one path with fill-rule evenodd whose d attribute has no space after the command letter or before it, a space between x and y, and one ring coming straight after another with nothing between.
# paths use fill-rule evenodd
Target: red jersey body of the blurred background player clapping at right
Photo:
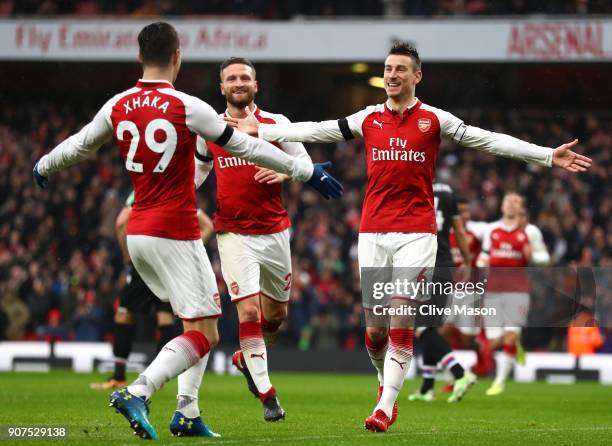
<instances>
[{"instance_id":1,"label":"red jersey body of the blurred background player clapping at right","mask_svg":"<svg viewBox=\"0 0 612 446\"><path fill-rule=\"evenodd\" d=\"M529 292L529 277L527 270L523 270L529 264L525 256L528 245L529 238L522 228L506 227L501 222L492 227L483 243L483 250L489 252L491 267L488 292Z\"/></svg>"}]
</instances>

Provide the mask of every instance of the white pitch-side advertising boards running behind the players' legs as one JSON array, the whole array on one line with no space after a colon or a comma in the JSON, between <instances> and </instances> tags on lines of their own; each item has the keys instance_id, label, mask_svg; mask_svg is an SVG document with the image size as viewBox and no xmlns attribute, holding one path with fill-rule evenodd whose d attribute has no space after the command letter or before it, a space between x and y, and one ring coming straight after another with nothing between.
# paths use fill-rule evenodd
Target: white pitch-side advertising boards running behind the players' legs
<instances>
[{"instance_id":1,"label":"white pitch-side advertising boards running behind the players' legs","mask_svg":"<svg viewBox=\"0 0 612 446\"><path fill-rule=\"evenodd\" d=\"M466 367L476 363L473 351L455 351L455 355ZM361 360L363 356L360 352L341 350L279 349L272 365L279 371L365 373L371 366L367 360ZM152 346L136 348L130 355L128 368L141 372L153 357ZM112 346L104 342L0 342L0 371L48 372L68 368L79 373L108 372L112 364ZM420 361L412 362L407 379L416 377L419 364ZM231 367L231 353L223 350L212 353L209 367L217 374L236 373ZM577 358L569 353L530 352L526 364L517 366L515 379L552 383L595 380L612 384L612 355L589 354Z\"/></svg>"}]
</instances>

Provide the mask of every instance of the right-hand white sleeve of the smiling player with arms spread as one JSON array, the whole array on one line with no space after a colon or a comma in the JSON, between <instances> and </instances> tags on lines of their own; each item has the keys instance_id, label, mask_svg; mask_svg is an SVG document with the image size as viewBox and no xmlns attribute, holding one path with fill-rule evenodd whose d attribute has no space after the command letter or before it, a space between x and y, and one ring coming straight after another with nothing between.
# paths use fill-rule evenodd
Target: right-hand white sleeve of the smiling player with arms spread
<instances>
[{"instance_id":1,"label":"right-hand white sleeve of the smiling player with arms spread","mask_svg":"<svg viewBox=\"0 0 612 446\"><path fill-rule=\"evenodd\" d=\"M465 125L456 116L443 110L432 111L440 121L441 136L462 147L481 150L492 155L513 158L540 166L552 166L553 149L528 143L503 133L490 132L471 125Z\"/></svg>"}]
</instances>

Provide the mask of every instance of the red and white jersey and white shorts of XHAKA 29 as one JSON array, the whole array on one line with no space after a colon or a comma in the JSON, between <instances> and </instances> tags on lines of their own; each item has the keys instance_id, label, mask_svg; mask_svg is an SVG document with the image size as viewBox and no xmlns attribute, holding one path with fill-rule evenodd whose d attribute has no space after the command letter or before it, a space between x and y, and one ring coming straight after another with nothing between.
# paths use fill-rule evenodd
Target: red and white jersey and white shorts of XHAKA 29
<instances>
[{"instance_id":1,"label":"red and white jersey and white shorts of XHAKA 29","mask_svg":"<svg viewBox=\"0 0 612 446\"><path fill-rule=\"evenodd\" d=\"M48 175L75 164L113 135L134 184L127 228L134 266L181 318L218 316L216 281L197 221L194 186L207 174L203 163L196 171L194 156L205 156L197 136L302 181L312 175L312 163L234 131L208 104L176 91L167 81L140 80L110 99L79 133L41 158L39 172Z\"/></svg>"}]
</instances>

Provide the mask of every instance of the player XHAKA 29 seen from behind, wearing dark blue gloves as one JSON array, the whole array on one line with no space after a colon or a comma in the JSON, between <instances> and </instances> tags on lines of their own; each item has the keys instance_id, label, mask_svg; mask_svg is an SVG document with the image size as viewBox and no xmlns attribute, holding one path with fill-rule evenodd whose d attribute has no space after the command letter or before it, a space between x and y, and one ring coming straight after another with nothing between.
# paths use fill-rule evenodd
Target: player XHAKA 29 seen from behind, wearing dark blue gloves
<instances>
[{"instance_id":1,"label":"player XHAKA 29 seen from behind, wearing dark blue gloves","mask_svg":"<svg viewBox=\"0 0 612 446\"><path fill-rule=\"evenodd\" d=\"M323 166L313 166L234 131L208 104L176 91L172 83L181 66L181 50L171 25L145 26L138 44L142 79L111 98L91 123L43 156L33 175L44 187L49 174L93 155L116 135L135 191L127 228L130 258L155 295L170 301L185 332L166 344L136 381L115 391L111 406L139 436L157 438L148 418L149 399L164 382L180 375L171 432L215 436L202 421L198 407L209 351L218 342L221 308L197 220L194 183L199 187L208 173L202 165L196 172L197 136L236 156L306 181L326 198L340 196L342 187Z\"/></svg>"}]
</instances>

